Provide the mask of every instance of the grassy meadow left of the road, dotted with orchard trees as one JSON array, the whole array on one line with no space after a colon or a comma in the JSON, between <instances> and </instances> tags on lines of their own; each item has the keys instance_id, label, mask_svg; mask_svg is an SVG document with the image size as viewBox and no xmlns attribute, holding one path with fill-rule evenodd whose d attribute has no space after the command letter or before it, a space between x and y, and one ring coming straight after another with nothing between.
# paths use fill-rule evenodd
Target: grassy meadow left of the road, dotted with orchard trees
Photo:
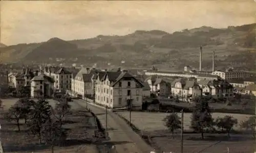
<instances>
[{"instance_id":1,"label":"grassy meadow left of the road, dotted with orchard trees","mask_svg":"<svg viewBox=\"0 0 256 153\"><path fill-rule=\"evenodd\" d=\"M4 110L6 112L11 105L18 99L2 99L4 101ZM50 105L54 107L54 100L48 100ZM68 139L65 147L55 147L55 152L98 152L97 146L92 144L95 140L94 131L97 129L95 118L80 106L70 102L72 114L65 119L63 127L68 129ZM1 117L1 141L5 152L51 152L49 147L38 144L38 138L28 134L27 125L21 121L20 129L14 122L6 121Z\"/></svg>"}]
</instances>

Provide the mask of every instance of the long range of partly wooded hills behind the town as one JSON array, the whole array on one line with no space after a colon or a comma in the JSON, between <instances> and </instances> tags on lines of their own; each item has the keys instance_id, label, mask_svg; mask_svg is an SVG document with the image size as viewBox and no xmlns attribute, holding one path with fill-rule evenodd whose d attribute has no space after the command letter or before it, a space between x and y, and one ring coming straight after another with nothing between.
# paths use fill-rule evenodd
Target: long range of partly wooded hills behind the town
<instances>
[{"instance_id":1,"label":"long range of partly wooded hills behind the town","mask_svg":"<svg viewBox=\"0 0 256 153\"><path fill-rule=\"evenodd\" d=\"M203 45L203 67L210 69L215 50L216 64L254 69L251 61L234 64L239 55L253 57L256 23L216 29L202 26L169 34L160 30L138 30L124 36L103 36L65 41L51 38L46 42L17 44L0 48L5 62L66 63L105 66L157 67L182 69L198 67L199 46ZM122 62L121 61L125 61ZM227 63L232 61L233 64ZM253 63L253 64L252 64Z\"/></svg>"}]
</instances>

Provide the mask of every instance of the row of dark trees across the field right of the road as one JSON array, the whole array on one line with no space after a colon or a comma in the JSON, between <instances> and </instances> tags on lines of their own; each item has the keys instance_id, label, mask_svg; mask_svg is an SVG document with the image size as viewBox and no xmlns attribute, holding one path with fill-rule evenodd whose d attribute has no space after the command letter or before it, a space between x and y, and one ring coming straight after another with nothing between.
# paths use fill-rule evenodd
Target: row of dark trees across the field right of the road
<instances>
[{"instance_id":1,"label":"row of dark trees across the field right of the road","mask_svg":"<svg viewBox=\"0 0 256 153\"><path fill-rule=\"evenodd\" d=\"M172 136L174 138L175 131L181 129L181 117L179 117L177 113L173 112L167 115L163 121L168 130L172 132ZM197 98L196 105L191 115L190 128L194 132L201 133L202 139L204 139L204 133L207 131L217 130L226 133L227 136L230 137L231 130L238 124L240 124L241 129L252 131L253 138L255 139L255 116L251 116L240 123L238 123L238 119L231 115L214 119L212 118L208 100L204 97Z\"/></svg>"}]
</instances>

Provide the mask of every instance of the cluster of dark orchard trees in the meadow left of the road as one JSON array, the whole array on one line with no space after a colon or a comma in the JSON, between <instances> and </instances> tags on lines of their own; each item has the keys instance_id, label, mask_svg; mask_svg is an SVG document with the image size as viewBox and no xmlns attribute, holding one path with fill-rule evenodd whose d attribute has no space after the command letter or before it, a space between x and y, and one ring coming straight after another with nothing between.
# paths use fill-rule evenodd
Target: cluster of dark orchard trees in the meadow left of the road
<instances>
[{"instance_id":1,"label":"cluster of dark orchard trees in the meadow left of the road","mask_svg":"<svg viewBox=\"0 0 256 153\"><path fill-rule=\"evenodd\" d=\"M60 97L55 107L50 106L46 99L20 98L12 105L5 118L15 122L20 131L20 122L25 120L29 133L38 138L39 143L44 142L51 146L61 145L67 138L67 130L62 127L63 120L71 113L71 106L65 96Z\"/></svg>"}]
</instances>

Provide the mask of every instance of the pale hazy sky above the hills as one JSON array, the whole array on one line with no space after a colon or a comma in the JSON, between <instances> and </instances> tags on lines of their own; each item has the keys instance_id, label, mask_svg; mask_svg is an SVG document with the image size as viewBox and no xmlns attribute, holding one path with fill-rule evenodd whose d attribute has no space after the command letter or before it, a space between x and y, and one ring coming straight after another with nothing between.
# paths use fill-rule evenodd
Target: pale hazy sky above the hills
<instances>
[{"instance_id":1,"label":"pale hazy sky above the hills","mask_svg":"<svg viewBox=\"0 0 256 153\"><path fill-rule=\"evenodd\" d=\"M239 1L0 1L0 42L6 45L169 33L203 25L227 28L256 22L256 0Z\"/></svg>"}]
</instances>

